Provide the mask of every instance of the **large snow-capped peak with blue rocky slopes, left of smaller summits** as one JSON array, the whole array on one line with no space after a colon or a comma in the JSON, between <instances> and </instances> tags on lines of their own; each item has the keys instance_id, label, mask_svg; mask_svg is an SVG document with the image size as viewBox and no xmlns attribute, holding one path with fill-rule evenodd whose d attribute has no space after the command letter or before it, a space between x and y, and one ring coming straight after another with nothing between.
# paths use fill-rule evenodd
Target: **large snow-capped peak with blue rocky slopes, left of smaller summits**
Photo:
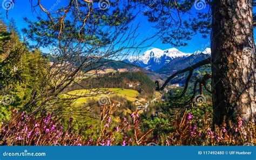
<instances>
[{"instance_id":1,"label":"large snow-capped peak with blue rocky slopes, left of smaller summits","mask_svg":"<svg viewBox=\"0 0 256 160\"><path fill-rule=\"evenodd\" d=\"M135 64L137 66L146 68L148 70L156 71L164 66L164 64L169 63L173 59L178 57L187 57L190 56L189 53L180 52L176 48L170 48L161 50L158 48L153 48L147 50L141 56L131 56L125 62Z\"/></svg>"}]
</instances>

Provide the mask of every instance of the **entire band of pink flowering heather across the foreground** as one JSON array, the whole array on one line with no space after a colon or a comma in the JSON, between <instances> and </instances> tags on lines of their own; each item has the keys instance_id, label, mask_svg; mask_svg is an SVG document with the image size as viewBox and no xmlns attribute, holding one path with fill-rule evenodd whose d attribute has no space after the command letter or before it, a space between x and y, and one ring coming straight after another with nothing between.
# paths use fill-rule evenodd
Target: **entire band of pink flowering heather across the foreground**
<instances>
[{"instance_id":1,"label":"entire band of pink flowering heather across the foreground","mask_svg":"<svg viewBox=\"0 0 256 160\"><path fill-rule=\"evenodd\" d=\"M238 118L237 123L224 123L221 127L215 126L212 130L211 121L207 117L196 119L192 113L184 113L181 117L172 120L173 127L168 133L152 134L159 128L150 128L143 131L142 123L133 112L128 121L125 117L118 123L110 123L110 111L102 114L100 132L94 136L83 137L72 130L70 119L69 127L64 130L58 120L51 115L35 118L24 113L11 115L6 125L2 122L0 130L0 144L8 146L144 146L148 142L159 146L218 146L218 145L255 145L255 125L249 122L247 126ZM106 125L107 124L107 125ZM93 126L86 129L95 135ZM80 133L80 132L79 132Z\"/></svg>"}]
</instances>

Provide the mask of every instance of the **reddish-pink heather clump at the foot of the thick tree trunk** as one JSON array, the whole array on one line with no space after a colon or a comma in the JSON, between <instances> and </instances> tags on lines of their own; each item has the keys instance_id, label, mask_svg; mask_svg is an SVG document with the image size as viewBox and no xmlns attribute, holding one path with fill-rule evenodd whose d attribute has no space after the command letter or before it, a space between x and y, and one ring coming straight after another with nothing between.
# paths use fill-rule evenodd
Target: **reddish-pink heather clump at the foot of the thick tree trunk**
<instances>
[{"instance_id":1,"label":"reddish-pink heather clump at the foot of the thick tree trunk","mask_svg":"<svg viewBox=\"0 0 256 160\"><path fill-rule=\"evenodd\" d=\"M186 116L185 116L186 115ZM255 145L255 125L249 122L242 127L242 120L237 123L223 123L221 127L215 126L212 130L211 121L206 117L203 120L192 120L192 114L184 114L180 119L174 120L174 132L169 133L165 140L167 146L242 146ZM203 125L201 125L203 123ZM201 127L198 127L201 125ZM227 127L227 125L229 127ZM171 137L171 138L170 138Z\"/></svg>"}]
</instances>

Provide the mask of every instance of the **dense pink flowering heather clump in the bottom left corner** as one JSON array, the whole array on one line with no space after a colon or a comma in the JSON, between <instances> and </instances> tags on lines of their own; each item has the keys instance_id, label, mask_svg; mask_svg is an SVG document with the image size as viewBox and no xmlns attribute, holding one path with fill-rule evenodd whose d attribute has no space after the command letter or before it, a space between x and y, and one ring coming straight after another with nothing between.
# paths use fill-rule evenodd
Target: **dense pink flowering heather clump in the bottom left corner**
<instances>
[{"instance_id":1,"label":"dense pink flowering heather clump in the bottom left corner","mask_svg":"<svg viewBox=\"0 0 256 160\"><path fill-rule=\"evenodd\" d=\"M57 120L48 115L46 118L36 119L24 112L14 111L11 120L0 130L0 144L8 146L80 146L82 139L76 133L66 131Z\"/></svg>"}]
</instances>

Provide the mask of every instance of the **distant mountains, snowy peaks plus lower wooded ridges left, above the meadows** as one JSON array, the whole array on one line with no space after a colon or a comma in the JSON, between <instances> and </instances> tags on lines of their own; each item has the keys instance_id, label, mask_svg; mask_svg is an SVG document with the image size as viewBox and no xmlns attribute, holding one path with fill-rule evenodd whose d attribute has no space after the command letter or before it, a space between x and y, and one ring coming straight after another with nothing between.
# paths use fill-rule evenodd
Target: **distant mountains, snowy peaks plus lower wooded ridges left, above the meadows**
<instances>
[{"instance_id":1,"label":"distant mountains, snowy peaks plus lower wooded ridges left, above the meadows","mask_svg":"<svg viewBox=\"0 0 256 160\"><path fill-rule=\"evenodd\" d=\"M183 53L176 48L165 50L153 48L147 50L141 56L131 56L124 61L100 59L90 67L83 68L83 71L93 72L93 70L97 69L99 74L105 74L112 69L118 72L145 73L152 81L159 81L161 83L174 72L192 66L210 56L210 48L206 48L203 52L198 50L194 53ZM50 61L53 60L51 56L48 58ZM80 57L80 59L83 59L83 57ZM92 60L89 59L89 61ZM199 71L203 72L205 69L199 69ZM208 69L208 71L210 70ZM173 79L173 83L183 84L184 76L183 74L179 75Z\"/></svg>"}]
</instances>

